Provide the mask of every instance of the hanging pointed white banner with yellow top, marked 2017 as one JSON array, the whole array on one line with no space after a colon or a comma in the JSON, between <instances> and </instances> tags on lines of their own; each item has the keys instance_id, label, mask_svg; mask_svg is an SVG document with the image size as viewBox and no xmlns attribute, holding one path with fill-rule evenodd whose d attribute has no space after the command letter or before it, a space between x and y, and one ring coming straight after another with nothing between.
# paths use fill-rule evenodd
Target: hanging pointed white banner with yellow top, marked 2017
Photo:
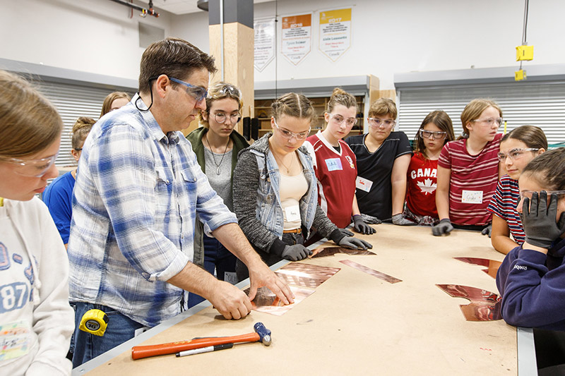
<instances>
[{"instance_id":1,"label":"hanging pointed white banner with yellow top, marked 2017","mask_svg":"<svg viewBox=\"0 0 565 376\"><path fill-rule=\"evenodd\" d=\"M351 46L351 8L320 12L319 49L332 61Z\"/></svg>"}]
</instances>

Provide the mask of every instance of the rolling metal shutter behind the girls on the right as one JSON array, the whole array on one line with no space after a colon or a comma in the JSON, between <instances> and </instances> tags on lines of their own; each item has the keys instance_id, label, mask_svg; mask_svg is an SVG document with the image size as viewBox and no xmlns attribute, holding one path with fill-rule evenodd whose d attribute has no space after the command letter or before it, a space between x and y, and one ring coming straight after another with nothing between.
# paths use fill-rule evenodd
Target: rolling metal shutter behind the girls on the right
<instances>
[{"instance_id":1,"label":"rolling metal shutter behind the girls on the right","mask_svg":"<svg viewBox=\"0 0 565 376\"><path fill-rule=\"evenodd\" d=\"M442 109L451 117L457 136L463 131L461 111L475 98L490 98L499 104L506 131L530 124L543 129L549 144L565 141L563 81L402 87L398 89L400 131L414 139L424 117ZM504 132L504 125L500 131Z\"/></svg>"}]
</instances>

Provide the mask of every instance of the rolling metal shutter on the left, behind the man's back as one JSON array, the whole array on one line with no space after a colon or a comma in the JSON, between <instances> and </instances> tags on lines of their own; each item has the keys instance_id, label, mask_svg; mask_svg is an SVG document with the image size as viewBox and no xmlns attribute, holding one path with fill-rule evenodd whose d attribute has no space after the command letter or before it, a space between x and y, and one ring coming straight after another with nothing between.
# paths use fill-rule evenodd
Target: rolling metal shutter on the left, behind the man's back
<instances>
[{"instance_id":1,"label":"rolling metal shutter on the left, behind the man's back","mask_svg":"<svg viewBox=\"0 0 565 376\"><path fill-rule=\"evenodd\" d=\"M80 116L88 116L98 120L102 110L102 102L114 90L46 81L36 81L34 84L57 107L57 111L63 119L61 149L55 164L59 167L76 166L75 159L71 155L73 124ZM131 93L128 94L131 96Z\"/></svg>"}]
</instances>

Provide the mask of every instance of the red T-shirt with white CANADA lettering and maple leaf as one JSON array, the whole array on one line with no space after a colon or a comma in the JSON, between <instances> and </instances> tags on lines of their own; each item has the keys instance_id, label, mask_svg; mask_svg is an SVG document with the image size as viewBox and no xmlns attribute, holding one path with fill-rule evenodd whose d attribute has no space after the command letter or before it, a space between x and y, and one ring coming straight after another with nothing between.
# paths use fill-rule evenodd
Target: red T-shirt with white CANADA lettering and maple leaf
<instances>
[{"instance_id":1,"label":"red T-shirt with white CANADA lettering and maple leaf","mask_svg":"<svg viewBox=\"0 0 565 376\"><path fill-rule=\"evenodd\" d=\"M437 159L426 159L420 152L412 155L407 181L408 210L417 215L436 218Z\"/></svg>"}]
</instances>

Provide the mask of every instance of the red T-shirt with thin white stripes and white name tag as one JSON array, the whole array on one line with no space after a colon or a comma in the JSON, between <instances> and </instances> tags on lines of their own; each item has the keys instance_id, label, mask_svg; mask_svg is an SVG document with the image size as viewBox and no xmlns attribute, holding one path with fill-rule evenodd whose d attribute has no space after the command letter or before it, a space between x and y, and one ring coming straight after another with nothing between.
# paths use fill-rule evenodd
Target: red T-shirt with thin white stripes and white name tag
<instances>
[{"instance_id":1,"label":"red T-shirt with thin white stripes and white name tag","mask_svg":"<svg viewBox=\"0 0 565 376\"><path fill-rule=\"evenodd\" d=\"M498 133L482 151L471 155L467 139L447 142L439 155L438 166L451 169L449 182L449 219L464 226L484 226L492 222L487 206L499 180L500 149Z\"/></svg>"}]
</instances>

